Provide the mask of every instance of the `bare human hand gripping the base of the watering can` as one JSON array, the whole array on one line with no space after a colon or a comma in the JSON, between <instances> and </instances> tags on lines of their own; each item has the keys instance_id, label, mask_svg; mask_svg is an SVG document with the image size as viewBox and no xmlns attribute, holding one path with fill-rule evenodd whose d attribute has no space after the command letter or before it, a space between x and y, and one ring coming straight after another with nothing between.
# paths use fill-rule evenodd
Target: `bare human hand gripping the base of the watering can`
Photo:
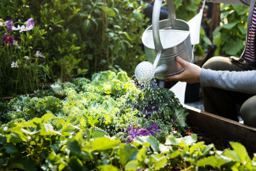
<instances>
[{"instance_id":1,"label":"bare human hand gripping the base of the watering can","mask_svg":"<svg viewBox=\"0 0 256 171\"><path fill-rule=\"evenodd\" d=\"M200 66L184 61L179 56L177 56L176 62L177 64L180 64L181 66L183 66L184 71L178 75L167 77L164 81L179 80L179 81L188 82L188 83L200 82L200 73L201 73Z\"/></svg>"}]
</instances>

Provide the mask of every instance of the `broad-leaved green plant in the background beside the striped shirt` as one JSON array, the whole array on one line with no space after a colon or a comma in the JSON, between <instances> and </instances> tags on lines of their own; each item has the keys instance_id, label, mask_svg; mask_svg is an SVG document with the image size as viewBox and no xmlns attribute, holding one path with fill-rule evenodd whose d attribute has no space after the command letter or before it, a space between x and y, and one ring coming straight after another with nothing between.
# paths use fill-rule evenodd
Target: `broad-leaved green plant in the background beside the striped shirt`
<instances>
[{"instance_id":1,"label":"broad-leaved green plant in the background beside the striped shirt","mask_svg":"<svg viewBox=\"0 0 256 171\"><path fill-rule=\"evenodd\" d=\"M216 56L241 56L246 38L248 6L221 4L221 22L214 31Z\"/></svg>"}]
</instances>

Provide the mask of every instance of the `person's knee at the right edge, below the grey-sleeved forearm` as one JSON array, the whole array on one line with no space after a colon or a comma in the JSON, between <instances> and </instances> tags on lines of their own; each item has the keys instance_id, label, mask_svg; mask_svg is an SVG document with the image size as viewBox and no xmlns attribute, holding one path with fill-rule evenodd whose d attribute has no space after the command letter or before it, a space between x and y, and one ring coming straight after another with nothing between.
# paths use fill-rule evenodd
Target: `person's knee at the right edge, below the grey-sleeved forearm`
<instances>
[{"instance_id":1,"label":"person's knee at the right edge, below the grey-sleeved forearm","mask_svg":"<svg viewBox=\"0 0 256 171\"><path fill-rule=\"evenodd\" d=\"M256 96L252 96L243 103L240 114L244 124L256 127Z\"/></svg>"}]
</instances>

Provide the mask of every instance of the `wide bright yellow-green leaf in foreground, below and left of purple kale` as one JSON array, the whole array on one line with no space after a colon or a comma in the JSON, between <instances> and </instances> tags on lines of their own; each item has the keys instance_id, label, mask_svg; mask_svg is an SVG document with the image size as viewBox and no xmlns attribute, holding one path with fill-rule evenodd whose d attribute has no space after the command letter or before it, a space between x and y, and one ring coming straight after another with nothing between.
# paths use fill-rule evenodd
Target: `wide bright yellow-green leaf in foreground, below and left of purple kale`
<instances>
[{"instance_id":1,"label":"wide bright yellow-green leaf in foreground, below and left of purple kale","mask_svg":"<svg viewBox=\"0 0 256 171\"><path fill-rule=\"evenodd\" d=\"M92 151L104 151L106 149L113 149L117 144L120 143L120 140L111 139L108 137L100 137L92 140Z\"/></svg>"}]
</instances>

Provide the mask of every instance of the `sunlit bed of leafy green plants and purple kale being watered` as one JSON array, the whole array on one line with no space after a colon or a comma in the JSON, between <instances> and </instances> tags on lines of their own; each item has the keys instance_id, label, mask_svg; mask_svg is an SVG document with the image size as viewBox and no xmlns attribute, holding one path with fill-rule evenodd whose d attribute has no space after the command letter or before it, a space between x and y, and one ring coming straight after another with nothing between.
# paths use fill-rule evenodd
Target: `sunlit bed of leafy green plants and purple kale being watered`
<instances>
[{"instance_id":1,"label":"sunlit bed of leafy green plants and purple kale being watered","mask_svg":"<svg viewBox=\"0 0 256 171\"><path fill-rule=\"evenodd\" d=\"M186 128L186 112L173 93L138 89L124 71L35 94L0 103L3 170L256 169L242 144L218 151L196 135L181 137L173 126Z\"/></svg>"}]
</instances>

